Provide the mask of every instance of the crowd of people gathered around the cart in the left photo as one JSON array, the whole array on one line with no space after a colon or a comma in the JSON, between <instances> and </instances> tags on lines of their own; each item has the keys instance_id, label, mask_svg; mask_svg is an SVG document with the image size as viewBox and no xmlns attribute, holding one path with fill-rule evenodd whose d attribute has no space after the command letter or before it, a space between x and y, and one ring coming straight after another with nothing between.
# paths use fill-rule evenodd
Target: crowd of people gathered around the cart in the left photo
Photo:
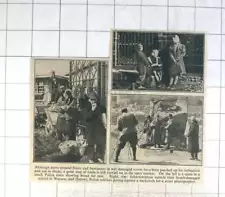
<instances>
[{"instance_id":1,"label":"crowd of people gathered around the cart in the left photo","mask_svg":"<svg viewBox=\"0 0 225 197\"><path fill-rule=\"evenodd\" d=\"M77 95L71 89L59 86L55 72L52 72L50 83L45 89L44 102L56 106L58 140L76 141L82 136L87 144L83 155L89 156L90 163L103 163L106 144L106 109L100 104L96 92L94 90L87 92L81 88Z\"/></svg>"}]
</instances>

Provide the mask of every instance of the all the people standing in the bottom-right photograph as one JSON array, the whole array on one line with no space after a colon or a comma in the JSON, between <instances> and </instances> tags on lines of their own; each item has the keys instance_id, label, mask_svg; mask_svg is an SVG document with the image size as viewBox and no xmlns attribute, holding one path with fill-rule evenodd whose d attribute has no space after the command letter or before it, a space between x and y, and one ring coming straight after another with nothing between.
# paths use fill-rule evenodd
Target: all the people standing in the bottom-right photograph
<instances>
[{"instance_id":1,"label":"all the people standing in the bottom-right photograph","mask_svg":"<svg viewBox=\"0 0 225 197\"><path fill-rule=\"evenodd\" d=\"M118 162L121 150L125 147L126 143L130 144L133 152L133 160L136 160L136 150L138 144L138 136L136 127L138 120L135 115L128 112L127 108L122 109L122 114L118 117L117 128L120 132L119 143L116 147L115 162ZM166 123L163 123L159 115L155 117L147 116L144 122L144 131L146 134L145 142L142 148L148 145L162 148L161 145L166 145L166 149L170 149L172 143L173 132L173 115L169 114ZM195 116L190 117L187 121L184 136L187 137L188 151L191 154L191 160L198 160L199 152L199 124Z\"/></svg>"}]
</instances>

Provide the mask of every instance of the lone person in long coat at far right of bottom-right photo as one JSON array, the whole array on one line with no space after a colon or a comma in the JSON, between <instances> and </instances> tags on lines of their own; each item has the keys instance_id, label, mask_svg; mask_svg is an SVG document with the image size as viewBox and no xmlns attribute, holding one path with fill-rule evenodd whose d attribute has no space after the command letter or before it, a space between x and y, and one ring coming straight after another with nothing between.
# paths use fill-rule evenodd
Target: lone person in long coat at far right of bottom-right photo
<instances>
[{"instance_id":1,"label":"lone person in long coat at far right of bottom-right photo","mask_svg":"<svg viewBox=\"0 0 225 197\"><path fill-rule=\"evenodd\" d=\"M198 160L199 152L199 124L195 116L191 116L189 131L186 134L188 138L188 151L191 153L191 160Z\"/></svg>"}]
</instances>

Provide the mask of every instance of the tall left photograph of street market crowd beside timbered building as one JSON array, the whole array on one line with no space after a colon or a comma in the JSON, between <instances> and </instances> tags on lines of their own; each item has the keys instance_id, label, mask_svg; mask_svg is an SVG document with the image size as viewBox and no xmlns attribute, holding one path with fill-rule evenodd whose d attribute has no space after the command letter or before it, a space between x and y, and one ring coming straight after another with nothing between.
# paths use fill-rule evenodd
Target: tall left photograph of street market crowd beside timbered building
<instances>
[{"instance_id":1,"label":"tall left photograph of street market crowd beside timbered building","mask_svg":"<svg viewBox=\"0 0 225 197\"><path fill-rule=\"evenodd\" d=\"M33 62L33 162L105 163L108 61Z\"/></svg>"}]
</instances>

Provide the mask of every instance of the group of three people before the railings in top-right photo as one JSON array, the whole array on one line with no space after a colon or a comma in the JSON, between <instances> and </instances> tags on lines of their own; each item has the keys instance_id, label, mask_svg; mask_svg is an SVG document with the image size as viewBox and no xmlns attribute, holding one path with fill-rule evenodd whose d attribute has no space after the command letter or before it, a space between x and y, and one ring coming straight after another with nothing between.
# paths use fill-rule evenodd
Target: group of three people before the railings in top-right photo
<instances>
[{"instance_id":1,"label":"group of three people before the railings in top-right photo","mask_svg":"<svg viewBox=\"0 0 225 197\"><path fill-rule=\"evenodd\" d=\"M178 35L172 37L172 44L163 50L153 49L148 56L139 43L136 48L135 62L139 79L139 89L167 87L175 89L180 76L186 75L183 57L186 55L185 45L180 43Z\"/></svg>"}]
</instances>

